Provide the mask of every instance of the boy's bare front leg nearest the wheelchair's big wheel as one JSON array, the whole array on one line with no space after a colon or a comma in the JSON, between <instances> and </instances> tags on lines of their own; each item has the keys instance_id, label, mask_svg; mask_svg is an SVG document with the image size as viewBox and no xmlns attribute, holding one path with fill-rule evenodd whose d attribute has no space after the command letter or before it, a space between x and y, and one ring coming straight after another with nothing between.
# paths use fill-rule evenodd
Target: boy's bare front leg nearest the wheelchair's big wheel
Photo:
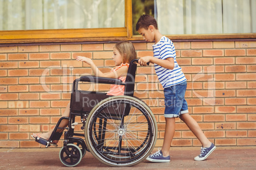
<instances>
[{"instance_id":1,"label":"boy's bare front leg nearest the wheelchair's big wheel","mask_svg":"<svg viewBox=\"0 0 256 170\"><path fill-rule=\"evenodd\" d=\"M175 118L166 118L166 129L164 132L164 143L162 145L162 154L164 157L169 156L171 141L175 133Z\"/></svg>"}]
</instances>

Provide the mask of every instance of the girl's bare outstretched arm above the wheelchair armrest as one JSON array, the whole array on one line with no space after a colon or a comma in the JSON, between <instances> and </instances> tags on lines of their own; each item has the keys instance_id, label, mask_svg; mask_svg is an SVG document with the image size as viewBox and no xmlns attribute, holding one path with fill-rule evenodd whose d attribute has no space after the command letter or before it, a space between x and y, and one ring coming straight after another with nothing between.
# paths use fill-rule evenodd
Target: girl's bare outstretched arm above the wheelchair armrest
<instances>
[{"instance_id":1,"label":"girl's bare outstretched arm above the wheelchair armrest","mask_svg":"<svg viewBox=\"0 0 256 170\"><path fill-rule=\"evenodd\" d=\"M85 56L76 56L76 60L85 62L90 65L92 72L97 77L108 77L108 78L113 78L113 79L118 79L123 74L127 74L128 68L127 67L121 67L120 69L113 71L113 72L108 72L108 73L103 73L101 70L97 68L97 66L92 62L90 58L87 58Z\"/></svg>"}]
</instances>

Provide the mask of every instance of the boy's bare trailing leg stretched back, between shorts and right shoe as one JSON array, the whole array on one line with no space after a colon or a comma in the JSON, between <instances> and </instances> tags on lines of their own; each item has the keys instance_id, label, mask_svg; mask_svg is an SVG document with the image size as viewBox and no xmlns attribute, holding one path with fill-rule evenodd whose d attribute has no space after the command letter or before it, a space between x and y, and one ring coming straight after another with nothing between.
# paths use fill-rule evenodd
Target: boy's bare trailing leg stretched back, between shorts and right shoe
<instances>
[{"instance_id":1,"label":"boy's bare trailing leg stretched back, between shorts and right shoe","mask_svg":"<svg viewBox=\"0 0 256 170\"><path fill-rule=\"evenodd\" d=\"M210 147L211 141L206 138L203 131L199 127L199 124L191 117L190 114L180 115L180 119L187 124L188 128L195 134L198 140L202 143L203 147Z\"/></svg>"}]
</instances>

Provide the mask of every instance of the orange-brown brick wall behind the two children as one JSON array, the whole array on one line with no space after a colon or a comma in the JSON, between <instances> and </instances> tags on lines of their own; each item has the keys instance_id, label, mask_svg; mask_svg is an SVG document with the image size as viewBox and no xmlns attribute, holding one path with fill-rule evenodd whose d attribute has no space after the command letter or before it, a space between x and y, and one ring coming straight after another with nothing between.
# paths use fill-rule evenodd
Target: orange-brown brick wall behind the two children
<instances>
[{"instance_id":1,"label":"orange-brown brick wall behind the two children","mask_svg":"<svg viewBox=\"0 0 256 170\"><path fill-rule=\"evenodd\" d=\"M256 145L256 41L174 42L188 80L189 112L215 145ZM138 57L153 55L152 43L134 43ZM0 147L41 147L32 133L53 128L69 102L71 84L90 67L113 67L113 43L0 47ZM164 138L164 95L153 67L138 67L135 95L148 103ZM99 89L106 90L103 86ZM80 127L76 130L79 131ZM59 143L61 146L61 143ZM176 119L172 145L199 146Z\"/></svg>"}]
</instances>

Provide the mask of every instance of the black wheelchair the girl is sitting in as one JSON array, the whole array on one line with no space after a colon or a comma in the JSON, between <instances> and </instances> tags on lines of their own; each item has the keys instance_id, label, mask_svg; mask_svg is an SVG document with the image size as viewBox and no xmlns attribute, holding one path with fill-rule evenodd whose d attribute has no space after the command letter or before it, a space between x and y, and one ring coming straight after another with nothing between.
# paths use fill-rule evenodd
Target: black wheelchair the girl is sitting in
<instances>
[{"instance_id":1,"label":"black wheelchair the girl is sitting in","mask_svg":"<svg viewBox=\"0 0 256 170\"><path fill-rule=\"evenodd\" d=\"M61 117L49 140L36 141L49 147L59 140L64 129L62 164L73 167L86 152L108 166L134 166L150 155L157 140L157 122L146 103L134 97L134 82L138 59L131 61L125 82L119 79L82 76L73 82L69 117ZM109 96L98 91L83 91L85 83L118 84L125 86L124 96ZM84 134L75 133L75 117L82 121ZM66 119L68 127L60 128ZM85 137L85 141L80 137Z\"/></svg>"}]
</instances>

